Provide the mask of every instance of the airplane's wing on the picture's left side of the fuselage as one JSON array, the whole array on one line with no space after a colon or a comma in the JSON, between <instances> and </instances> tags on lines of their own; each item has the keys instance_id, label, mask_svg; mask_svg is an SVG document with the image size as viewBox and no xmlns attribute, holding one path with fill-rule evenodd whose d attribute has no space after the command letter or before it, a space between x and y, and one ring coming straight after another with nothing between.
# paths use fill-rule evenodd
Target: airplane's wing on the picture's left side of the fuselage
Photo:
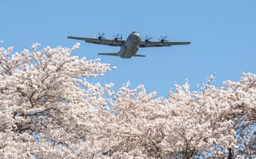
<instances>
[{"instance_id":1,"label":"airplane's wing on the picture's left side of the fuselage","mask_svg":"<svg viewBox=\"0 0 256 159\"><path fill-rule=\"evenodd\" d=\"M101 45L109 45L109 46L121 46L125 40L121 39L98 39L98 38L83 38L83 37L68 37L69 39L77 39L84 40L85 43L93 43L93 44L101 44Z\"/></svg>"}]
</instances>

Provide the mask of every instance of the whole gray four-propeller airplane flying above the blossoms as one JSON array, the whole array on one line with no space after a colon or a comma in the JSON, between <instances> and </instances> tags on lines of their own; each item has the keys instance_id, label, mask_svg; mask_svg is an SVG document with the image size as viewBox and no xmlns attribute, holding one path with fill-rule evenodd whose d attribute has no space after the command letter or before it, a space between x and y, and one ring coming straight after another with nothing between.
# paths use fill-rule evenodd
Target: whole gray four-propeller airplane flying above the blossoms
<instances>
[{"instance_id":1,"label":"whole gray four-propeller airplane flying above the blossoms","mask_svg":"<svg viewBox=\"0 0 256 159\"><path fill-rule=\"evenodd\" d=\"M162 46L172 46L172 45L188 45L190 42L171 42L166 40L167 36L160 36L159 41L151 41L152 37L146 35L145 40L141 40L141 35L139 31L133 31L126 40L123 37L119 37L119 34L113 35L114 39L106 39L103 37L105 34L98 32L97 38L83 38L83 37L73 37L68 36L69 39L85 40L85 43L109 45L109 46L120 46L118 53L98 53L98 55L109 55L109 56L119 56L121 58L131 58L131 57L145 57L145 55L136 54L139 47L162 47Z\"/></svg>"}]
</instances>

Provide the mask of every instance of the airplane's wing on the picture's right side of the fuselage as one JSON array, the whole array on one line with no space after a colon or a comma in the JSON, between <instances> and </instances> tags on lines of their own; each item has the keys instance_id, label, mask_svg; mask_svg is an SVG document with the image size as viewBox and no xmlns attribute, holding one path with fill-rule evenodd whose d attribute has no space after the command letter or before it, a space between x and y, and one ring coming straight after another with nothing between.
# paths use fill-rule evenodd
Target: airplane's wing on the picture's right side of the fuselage
<instances>
[{"instance_id":1,"label":"airplane's wing on the picture's right side of the fuselage","mask_svg":"<svg viewBox=\"0 0 256 159\"><path fill-rule=\"evenodd\" d=\"M139 47L161 47L172 45L188 45L190 42L171 42L171 41L141 41Z\"/></svg>"}]
</instances>

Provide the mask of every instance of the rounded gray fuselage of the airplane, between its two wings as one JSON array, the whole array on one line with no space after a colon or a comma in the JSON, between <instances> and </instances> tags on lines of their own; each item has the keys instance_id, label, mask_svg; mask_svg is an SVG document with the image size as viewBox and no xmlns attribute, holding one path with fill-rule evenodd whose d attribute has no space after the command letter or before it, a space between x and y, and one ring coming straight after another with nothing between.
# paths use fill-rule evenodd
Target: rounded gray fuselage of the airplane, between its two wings
<instances>
[{"instance_id":1,"label":"rounded gray fuselage of the airplane, between its two wings","mask_svg":"<svg viewBox=\"0 0 256 159\"><path fill-rule=\"evenodd\" d=\"M118 52L119 57L131 58L132 55L138 52L140 43L141 43L141 36L139 31L133 31L127 37L124 44L121 46L121 49Z\"/></svg>"}]
</instances>

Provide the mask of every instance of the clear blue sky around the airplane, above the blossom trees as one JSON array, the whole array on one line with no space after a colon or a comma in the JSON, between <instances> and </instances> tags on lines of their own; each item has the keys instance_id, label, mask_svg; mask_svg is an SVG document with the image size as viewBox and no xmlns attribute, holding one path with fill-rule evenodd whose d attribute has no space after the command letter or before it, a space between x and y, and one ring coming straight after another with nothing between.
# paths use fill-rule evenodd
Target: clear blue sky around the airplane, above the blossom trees
<instances>
[{"instance_id":1,"label":"clear blue sky around the airplane, above the blossom trees","mask_svg":"<svg viewBox=\"0 0 256 159\"><path fill-rule=\"evenodd\" d=\"M189 79L191 88L218 71L214 85L238 81L241 71L255 71L256 1L9 1L1 0L0 39L14 51L45 46L71 47L73 55L100 57L117 66L94 81L114 82L119 88L130 80L132 88L142 83L159 95ZM188 46L140 48L146 57L122 59L97 53L118 52L119 47L87 44L67 36L93 37L98 31L123 34L167 35L173 41L191 41Z\"/></svg>"}]
</instances>

